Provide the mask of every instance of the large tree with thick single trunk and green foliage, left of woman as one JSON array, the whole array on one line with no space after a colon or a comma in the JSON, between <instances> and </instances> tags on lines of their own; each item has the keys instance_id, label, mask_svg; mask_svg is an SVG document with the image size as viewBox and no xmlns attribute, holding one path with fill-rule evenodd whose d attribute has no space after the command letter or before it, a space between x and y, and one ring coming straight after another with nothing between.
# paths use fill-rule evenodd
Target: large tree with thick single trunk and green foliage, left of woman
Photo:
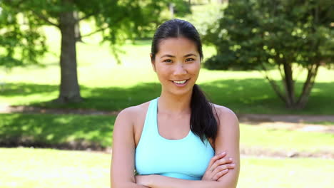
<instances>
[{"instance_id":1,"label":"large tree with thick single trunk and green foliage, left of woman","mask_svg":"<svg viewBox=\"0 0 334 188\"><path fill-rule=\"evenodd\" d=\"M95 21L97 30L93 33L101 32L116 53L116 44L144 36L166 19L160 14L168 8L168 1L2 0L0 7L0 66L38 63L47 51L41 26L59 28L61 84L55 101L69 103L82 100L76 72L76 42L84 37L78 31L79 22Z\"/></svg>"}]
</instances>

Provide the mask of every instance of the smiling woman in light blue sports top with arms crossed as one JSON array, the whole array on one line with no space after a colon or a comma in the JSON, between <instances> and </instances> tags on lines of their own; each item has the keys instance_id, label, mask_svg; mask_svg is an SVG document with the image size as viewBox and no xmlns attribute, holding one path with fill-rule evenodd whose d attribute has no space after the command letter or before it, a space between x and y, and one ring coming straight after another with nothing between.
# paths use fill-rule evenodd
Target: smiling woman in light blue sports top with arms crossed
<instances>
[{"instance_id":1,"label":"smiling woman in light blue sports top with arms crossed","mask_svg":"<svg viewBox=\"0 0 334 188\"><path fill-rule=\"evenodd\" d=\"M236 187L238 118L209 103L195 84L202 59L201 40L191 23L173 19L159 26L151 64L161 95L118 114L111 187Z\"/></svg>"}]
</instances>

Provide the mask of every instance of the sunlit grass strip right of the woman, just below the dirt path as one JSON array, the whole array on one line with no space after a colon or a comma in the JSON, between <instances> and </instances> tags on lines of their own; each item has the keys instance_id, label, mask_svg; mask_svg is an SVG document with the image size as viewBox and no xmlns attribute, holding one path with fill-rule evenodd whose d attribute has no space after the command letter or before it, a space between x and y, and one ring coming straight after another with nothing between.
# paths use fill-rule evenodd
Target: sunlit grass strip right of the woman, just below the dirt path
<instances>
[{"instance_id":1,"label":"sunlit grass strip right of the woman, just below the dirt path","mask_svg":"<svg viewBox=\"0 0 334 188\"><path fill-rule=\"evenodd\" d=\"M241 148L261 148L272 152L333 152L334 134L274 130L241 125Z\"/></svg>"}]
</instances>

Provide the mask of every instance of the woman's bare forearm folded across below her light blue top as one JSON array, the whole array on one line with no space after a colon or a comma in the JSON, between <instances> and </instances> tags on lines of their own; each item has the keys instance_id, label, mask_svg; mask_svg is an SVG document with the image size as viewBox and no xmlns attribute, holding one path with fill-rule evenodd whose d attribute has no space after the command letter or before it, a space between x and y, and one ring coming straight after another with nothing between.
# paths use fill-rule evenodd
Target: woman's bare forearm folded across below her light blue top
<instances>
[{"instance_id":1,"label":"woman's bare forearm folded across below her light blue top","mask_svg":"<svg viewBox=\"0 0 334 188\"><path fill-rule=\"evenodd\" d=\"M150 176L148 187L151 188L222 188L221 182L216 181L178 179L157 174Z\"/></svg>"}]
</instances>

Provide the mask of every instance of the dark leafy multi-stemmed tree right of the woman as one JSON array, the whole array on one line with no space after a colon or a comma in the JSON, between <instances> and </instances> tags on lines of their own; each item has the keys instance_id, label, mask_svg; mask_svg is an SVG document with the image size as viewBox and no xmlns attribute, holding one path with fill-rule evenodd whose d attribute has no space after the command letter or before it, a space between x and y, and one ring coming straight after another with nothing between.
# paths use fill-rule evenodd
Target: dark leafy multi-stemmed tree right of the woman
<instances>
[{"instance_id":1,"label":"dark leafy multi-stemmed tree right of the woman","mask_svg":"<svg viewBox=\"0 0 334 188\"><path fill-rule=\"evenodd\" d=\"M304 108L318 68L334 63L333 8L328 0L230 1L203 36L217 49L206 66L260 68L288 108ZM295 91L296 67L308 72L300 92ZM270 78L269 68L278 68L283 89Z\"/></svg>"}]
</instances>

